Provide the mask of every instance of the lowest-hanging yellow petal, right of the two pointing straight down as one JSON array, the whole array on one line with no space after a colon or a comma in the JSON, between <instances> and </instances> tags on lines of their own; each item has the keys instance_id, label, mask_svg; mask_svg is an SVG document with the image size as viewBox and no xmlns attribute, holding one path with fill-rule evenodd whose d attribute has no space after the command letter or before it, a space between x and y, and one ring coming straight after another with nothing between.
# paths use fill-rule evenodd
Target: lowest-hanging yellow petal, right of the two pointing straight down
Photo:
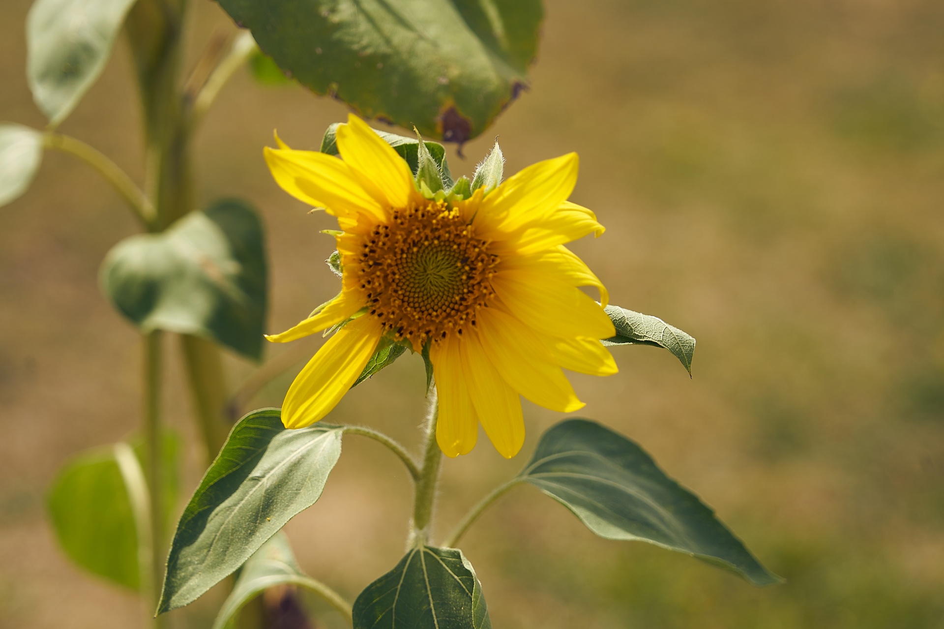
<instances>
[{"instance_id":1,"label":"lowest-hanging yellow petal, right of the two pointing straight down","mask_svg":"<svg viewBox=\"0 0 944 629\"><path fill-rule=\"evenodd\" d=\"M459 341L465 382L479 416L481 427L498 453L506 459L521 450L525 442L525 421L518 394L488 360L475 334L466 331Z\"/></svg>"}]
</instances>

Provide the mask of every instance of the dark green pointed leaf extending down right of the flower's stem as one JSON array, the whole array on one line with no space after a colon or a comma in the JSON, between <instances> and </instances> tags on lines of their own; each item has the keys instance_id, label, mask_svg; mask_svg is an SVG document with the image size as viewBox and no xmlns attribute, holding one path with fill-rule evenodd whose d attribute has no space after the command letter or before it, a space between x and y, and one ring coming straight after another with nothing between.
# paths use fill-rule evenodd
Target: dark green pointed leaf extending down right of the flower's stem
<instances>
[{"instance_id":1,"label":"dark green pointed leaf extending down right of the flower's stem","mask_svg":"<svg viewBox=\"0 0 944 629\"><path fill-rule=\"evenodd\" d=\"M563 504L598 536L690 554L733 570L755 586L781 581L649 454L595 421L567 419L544 433L520 478Z\"/></svg>"}]
</instances>

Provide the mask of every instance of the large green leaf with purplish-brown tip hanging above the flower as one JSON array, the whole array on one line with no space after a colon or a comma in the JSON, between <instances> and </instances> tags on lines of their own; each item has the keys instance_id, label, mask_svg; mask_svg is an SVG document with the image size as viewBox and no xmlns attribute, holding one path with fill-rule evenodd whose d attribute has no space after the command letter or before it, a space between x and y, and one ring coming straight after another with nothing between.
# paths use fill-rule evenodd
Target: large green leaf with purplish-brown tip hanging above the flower
<instances>
[{"instance_id":1,"label":"large green leaf with purplish-brown tip hanging above the flower","mask_svg":"<svg viewBox=\"0 0 944 629\"><path fill-rule=\"evenodd\" d=\"M540 0L219 0L315 93L464 143L528 83Z\"/></svg>"}]
</instances>

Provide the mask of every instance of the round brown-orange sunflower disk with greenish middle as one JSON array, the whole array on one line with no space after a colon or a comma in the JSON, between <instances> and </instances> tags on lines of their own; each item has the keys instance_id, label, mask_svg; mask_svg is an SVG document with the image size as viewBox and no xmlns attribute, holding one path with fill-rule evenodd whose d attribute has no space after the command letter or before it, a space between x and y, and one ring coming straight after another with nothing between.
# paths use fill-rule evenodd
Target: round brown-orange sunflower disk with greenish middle
<instances>
[{"instance_id":1,"label":"round brown-orange sunflower disk with greenish middle","mask_svg":"<svg viewBox=\"0 0 944 629\"><path fill-rule=\"evenodd\" d=\"M427 340L462 333L495 294L497 256L443 201L396 210L362 243L358 280L369 314L418 351Z\"/></svg>"}]
</instances>

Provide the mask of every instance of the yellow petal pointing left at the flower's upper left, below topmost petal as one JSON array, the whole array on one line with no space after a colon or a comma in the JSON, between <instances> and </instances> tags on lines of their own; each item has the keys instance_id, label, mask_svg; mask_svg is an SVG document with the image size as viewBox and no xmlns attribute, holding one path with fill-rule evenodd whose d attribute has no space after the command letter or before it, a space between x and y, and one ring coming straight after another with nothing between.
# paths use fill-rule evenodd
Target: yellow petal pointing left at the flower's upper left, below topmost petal
<instances>
[{"instance_id":1,"label":"yellow petal pointing left at the flower's upper left, below topmost petal","mask_svg":"<svg viewBox=\"0 0 944 629\"><path fill-rule=\"evenodd\" d=\"M262 153L278 185L298 200L324 207L332 216L356 219L367 214L374 222L386 216L344 161L317 151L268 146Z\"/></svg>"}]
</instances>

